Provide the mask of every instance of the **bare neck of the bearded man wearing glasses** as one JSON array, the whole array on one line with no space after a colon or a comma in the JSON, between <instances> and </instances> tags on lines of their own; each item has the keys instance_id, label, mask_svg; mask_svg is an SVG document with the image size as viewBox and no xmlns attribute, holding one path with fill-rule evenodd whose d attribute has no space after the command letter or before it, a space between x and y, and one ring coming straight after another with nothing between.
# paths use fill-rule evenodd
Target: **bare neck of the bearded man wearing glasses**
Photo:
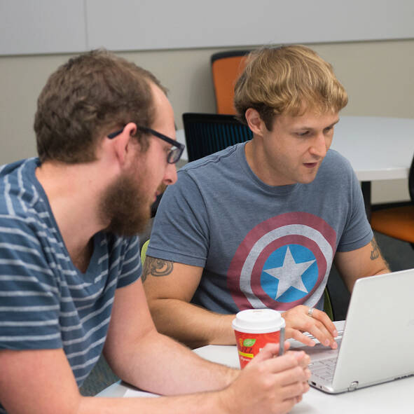
<instances>
[{"instance_id":1,"label":"bare neck of the bearded man wearing glasses","mask_svg":"<svg viewBox=\"0 0 414 414\"><path fill-rule=\"evenodd\" d=\"M85 272L93 251L92 237L105 227L97 214L102 180L96 168L93 163L46 162L36 169L36 178L48 196L71 260Z\"/></svg>"}]
</instances>

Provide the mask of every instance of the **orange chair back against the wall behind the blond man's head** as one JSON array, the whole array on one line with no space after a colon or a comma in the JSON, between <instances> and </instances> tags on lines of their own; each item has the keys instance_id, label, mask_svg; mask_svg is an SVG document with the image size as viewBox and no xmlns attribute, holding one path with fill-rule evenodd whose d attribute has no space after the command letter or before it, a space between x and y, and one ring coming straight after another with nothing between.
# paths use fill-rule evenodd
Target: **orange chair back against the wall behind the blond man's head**
<instances>
[{"instance_id":1,"label":"orange chair back against the wall behind the blond man's head","mask_svg":"<svg viewBox=\"0 0 414 414\"><path fill-rule=\"evenodd\" d=\"M217 113L235 114L233 106L234 85L244 69L250 50L229 50L214 53L211 57L214 95Z\"/></svg>"}]
</instances>

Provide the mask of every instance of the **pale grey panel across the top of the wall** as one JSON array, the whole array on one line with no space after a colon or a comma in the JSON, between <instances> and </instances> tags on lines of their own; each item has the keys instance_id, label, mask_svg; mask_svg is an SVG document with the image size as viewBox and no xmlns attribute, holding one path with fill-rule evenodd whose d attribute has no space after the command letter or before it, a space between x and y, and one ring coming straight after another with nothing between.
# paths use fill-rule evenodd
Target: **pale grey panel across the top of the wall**
<instances>
[{"instance_id":1,"label":"pale grey panel across the top of the wall","mask_svg":"<svg viewBox=\"0 0 414 414\"><path fill-rule=\"evenodd\" d=\"M413 18L412 0L1 0L0 55L413 39Z\"/></svg>"}]
</instances>

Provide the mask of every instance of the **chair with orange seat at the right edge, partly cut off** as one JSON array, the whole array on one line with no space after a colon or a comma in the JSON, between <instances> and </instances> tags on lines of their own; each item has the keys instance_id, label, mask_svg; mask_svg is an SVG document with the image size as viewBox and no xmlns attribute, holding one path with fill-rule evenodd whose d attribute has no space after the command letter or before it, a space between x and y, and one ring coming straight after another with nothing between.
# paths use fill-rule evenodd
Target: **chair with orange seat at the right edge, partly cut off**
<instances>
[{"instance_id":1,"label":"chair with orange seat at the right edge, partly cut off","mask_svg":"<svg viewBox=\"0 0 414 414\"><path fill-rule=\"evenodd\" d=\"M385 207L371 213L373 230L409 242L414 249L414 158L408 175L411 204Z\"/></svg>"}]
</instances>

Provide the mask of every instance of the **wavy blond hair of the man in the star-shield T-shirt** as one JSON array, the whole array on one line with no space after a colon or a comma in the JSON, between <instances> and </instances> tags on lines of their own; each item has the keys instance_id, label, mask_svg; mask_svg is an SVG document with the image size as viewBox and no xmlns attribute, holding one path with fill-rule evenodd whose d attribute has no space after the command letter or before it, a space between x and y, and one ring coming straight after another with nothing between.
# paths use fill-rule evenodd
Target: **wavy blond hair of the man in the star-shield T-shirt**
<instances>
[{"instance_id":1,"label":"wavy blond hair of the man in the star-shield T-shirt","mask_svg":"<svg viewBox=\"0 0 414 414\"><path fill-rule=\"evenodd\" d=\"M247 109L256 109L268 130L280 113L298 116L307 109L337 112L347 101L347 92L331 64L300 45L251 52L235 84L237 118L246 123Z\"/></svg>"}]
</instances>

